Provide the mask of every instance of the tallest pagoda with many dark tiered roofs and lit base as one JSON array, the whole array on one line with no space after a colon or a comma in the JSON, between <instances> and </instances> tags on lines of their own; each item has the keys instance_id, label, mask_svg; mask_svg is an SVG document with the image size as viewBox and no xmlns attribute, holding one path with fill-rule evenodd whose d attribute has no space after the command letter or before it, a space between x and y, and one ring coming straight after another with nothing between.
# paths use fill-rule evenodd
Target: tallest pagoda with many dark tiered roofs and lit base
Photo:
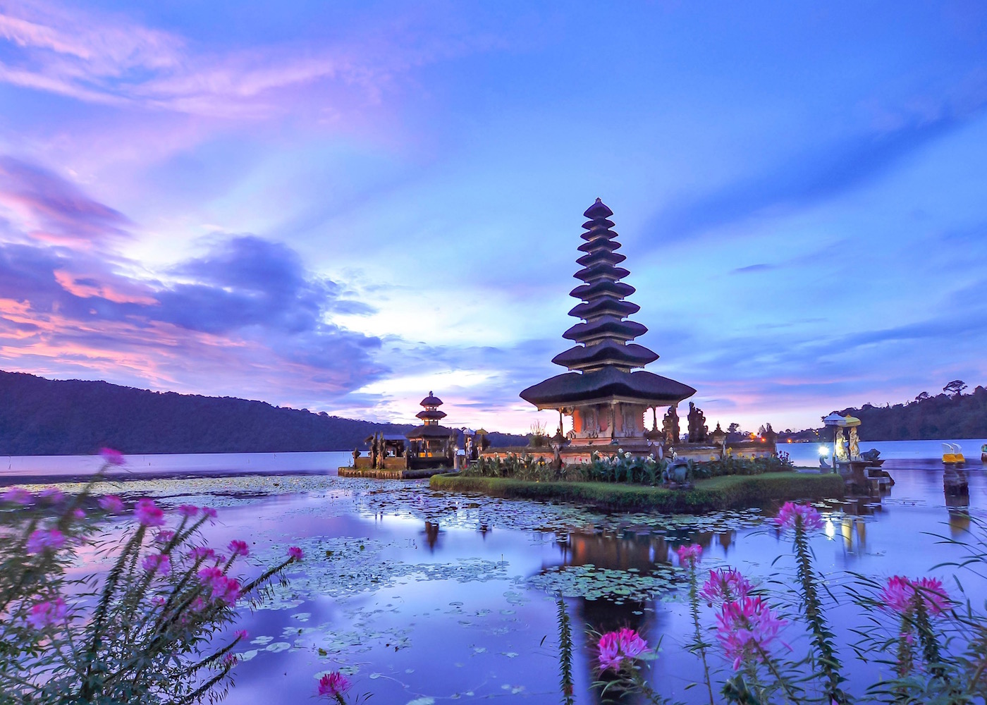
<instances>
[{"instance_id":1,"label":"tallest pagoda with many dark tiered roofs and lit base","mask_svg":"<svg viewBox=\"0 0 987 705\"><path fill-rule=\"evenodd\" d=\"M521 392L521 398L539 410L559 412L560 432L563 417L571 417L568 462L588 459L591 450L604 450L600 446L606 444L648 453L649 444L660 437L656 410L674 409L696 393L686 384L641 369L658 355L632 343L647 329L628 319L641 307L627 300L635 288L621 281L631 273L619 267L627 258L617 253L621 245L609 220L613 211L597 198L584 215L589 220L582 225L585 242L578 248L584 254L576 260L582 269L574 274L583 283L571 290L579 303L569 311L580 322L563 334L576 345L552 359L569 372ZM645 427L648 409L654 419L652 431Z\"/></svg>"}]
</instances>

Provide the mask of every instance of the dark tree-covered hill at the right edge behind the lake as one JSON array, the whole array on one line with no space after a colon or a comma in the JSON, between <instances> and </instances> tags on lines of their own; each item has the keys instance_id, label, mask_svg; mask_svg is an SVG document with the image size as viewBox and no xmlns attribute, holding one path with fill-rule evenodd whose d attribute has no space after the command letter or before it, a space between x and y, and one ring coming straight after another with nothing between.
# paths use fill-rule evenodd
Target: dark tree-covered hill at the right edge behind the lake
<instances>
[{"instance_id":1,"label":"dark tree-covered hill at the right edge behind the lake","mask_svg":"<svg viewBox=\"0 0 987 705\"><path fill-rule=\"evenodd\" d=\"M861 420L863 440L987 438L987 389L978 386L970 394L960 393L959 387L950 391L936 396L923 392L908 404L865 404L840 414Z\"/></svg>"}]
</instances>

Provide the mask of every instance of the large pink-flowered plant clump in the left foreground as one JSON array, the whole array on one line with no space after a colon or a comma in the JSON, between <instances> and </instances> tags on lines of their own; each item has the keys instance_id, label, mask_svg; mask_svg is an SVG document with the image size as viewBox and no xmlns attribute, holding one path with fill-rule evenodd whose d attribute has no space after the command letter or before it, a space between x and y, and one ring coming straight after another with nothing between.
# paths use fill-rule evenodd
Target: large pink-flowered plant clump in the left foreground
<instances>
[{"instance_id":1,"label":"large pink-flowered plant clump in the left foreground","mask_svg":"<svg viewBox=\"0 0 987 705\"><path fill-rule=\"evenodd\" d=\"M237 602L258 599L300 560L292 553L253 580L247 543L224 557L200 545L214 509L166 512L141 499L129 517L94 486L123 456L105 449L80 492L12 488L0 504L0 702L163 703L220 696L246 632L224 635ZM121 533L108 526L124 524ZM85 551L110 569L68 569ZM256 572L256 571L254 571Z\"/></svg>"}]
</instances>

